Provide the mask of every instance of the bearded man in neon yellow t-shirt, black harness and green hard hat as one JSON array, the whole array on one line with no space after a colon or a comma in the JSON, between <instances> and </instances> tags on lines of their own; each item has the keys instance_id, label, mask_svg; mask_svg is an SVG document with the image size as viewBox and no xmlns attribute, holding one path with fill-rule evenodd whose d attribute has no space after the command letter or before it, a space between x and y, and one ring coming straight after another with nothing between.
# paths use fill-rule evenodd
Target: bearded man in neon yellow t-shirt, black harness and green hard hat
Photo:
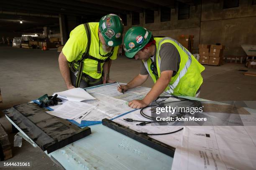
<instances>
[{"instance_id":1,"label":"bearded man in neon yellow t-shirt, black harness and green hard hat","mask_svg":"<svg viewBox=\"0 0 256 170\"><path fill-rule=\"evenodd\" d=\"M59 55L59 69L67 88L115 82L110 80L109 71L111 60L117 58L122 35L123 22L115 14L103 16L99 23L74 28Z\"/></svg>"}]
</instances>

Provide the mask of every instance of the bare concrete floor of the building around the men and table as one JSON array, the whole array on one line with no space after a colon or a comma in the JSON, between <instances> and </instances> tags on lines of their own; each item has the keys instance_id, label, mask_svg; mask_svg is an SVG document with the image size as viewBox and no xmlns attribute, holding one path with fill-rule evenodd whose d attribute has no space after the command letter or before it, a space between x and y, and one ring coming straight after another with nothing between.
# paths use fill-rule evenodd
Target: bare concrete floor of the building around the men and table
<instances>
[{"instance_id":1,"label":"bare concrete floor of the building around the men and table","mask_svg":"<svg viewBox=\"0 0 256 170\"><path fill-rule=\"evenodd\" d=\"M37 99L41 95L67 90L58 66L59 52L38 49L22 49L0 46L0 88L3 104L0 110ZM139 72L140 61L118 57L111 66L110 78L128 82ZM245 76L244 64L225 63L221 66L205 65L202 73L204 83L200 97L208 100L256 100L256 77ZM255 69L254 69L255 70ZM152 87L149 78L143 86ZM0 112L0 123L10 134L13 133L8 120ZM61 169L39 148L23 141L21 148L13 148L10 161L31 161L33 169ZM10 168L11 169L11 168Z\"/></svg>"}]
</instances>

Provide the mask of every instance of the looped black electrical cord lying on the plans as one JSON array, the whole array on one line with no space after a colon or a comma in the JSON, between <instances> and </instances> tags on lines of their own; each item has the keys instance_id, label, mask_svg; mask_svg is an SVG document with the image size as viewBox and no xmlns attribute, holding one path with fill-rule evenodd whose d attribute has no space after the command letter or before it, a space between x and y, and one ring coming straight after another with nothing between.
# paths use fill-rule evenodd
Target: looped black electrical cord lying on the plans
<instances>
[{"instance_id":1,"label":"looped black electrical cord lying on the plans","mask_svg":"<svg viewBox=\"0 0 256 170\"><path fill-rule=\"evenodd\" d=\"M155 102L157 105L148 105L146 107L143 107L140 111L141 113L141 116L145 117L146 119L149 119L151 121L145 121L145 120L133 120L131 118L125 118L123 120L127 121L127 122L141 122L141 123L138 123L136 125L140 125L140 126L145 126L147 124L151 124L151 123L154 123L154 122L175 122L176 120L169 120L169 121L157 121L156 120L156 117L152 117L152 116L149 116L149 115L146 115L143 110L145 110L146 108L148 107L152 107L152 106L163 106L163 101L165 100L162 100L161 103L158 102L157 100L158 99L164 99L164 98L169 98L169 97L174 97L174 98L177 98L179 99L178 101L169 101L169 102L165 102L164 104L168 104L168 103L174 103L174 102L182 102L182 101L190 101L190 102L193 102L193 104L195 106L198 106L198 105L202 105L200 101L197 101L197 100L190 100L190 99L187 99L187 98L183 98L183 97L177 97L177 96L159 96ZM177 116L170 116L170 117L182 117L182 115L185 115L186 113L183 113L183 112L179 112L179 115ZM141 134L144 134L144 135L168 135L168 134L172 134L172 133L177 133L179 132L180 130L182 130L183 128L179 129L179 130L176 130L176 131L173 131L173 132L169 132L169 133L141 133Z\"/></svg>"}]
</instances>

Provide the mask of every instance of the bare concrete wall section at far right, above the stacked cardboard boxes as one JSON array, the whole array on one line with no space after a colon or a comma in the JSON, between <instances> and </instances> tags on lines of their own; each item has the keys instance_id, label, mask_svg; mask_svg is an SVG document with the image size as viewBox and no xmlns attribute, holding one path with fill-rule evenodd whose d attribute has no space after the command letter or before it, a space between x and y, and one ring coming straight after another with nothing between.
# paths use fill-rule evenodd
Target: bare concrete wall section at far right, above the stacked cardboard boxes
<instances>
[{"instance_id":1,"label":"bare concrete wall section at far right, above the stacked cardboard boxes","mask_svg":"<svg viewBox=\"0 0 256 170\"><path fill-rule=\"evenodd\" d=\"M223 9L223 1L203 3L200 42L220 42L224 55L246 55L241 44L256 45L256 5L240 0L239 7Z\"/></svg>"}]
</instances>

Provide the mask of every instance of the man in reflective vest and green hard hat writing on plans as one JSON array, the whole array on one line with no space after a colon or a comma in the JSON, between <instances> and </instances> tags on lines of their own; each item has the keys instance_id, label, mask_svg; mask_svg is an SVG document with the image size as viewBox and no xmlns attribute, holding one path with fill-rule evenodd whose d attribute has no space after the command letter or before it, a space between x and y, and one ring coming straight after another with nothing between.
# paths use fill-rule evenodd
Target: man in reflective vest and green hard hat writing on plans
<instances>
[{"instance_id":1,"label":"man in reflective vest and green hard hat writing on plans","mask_svg":"<svg viewBox=\"0 0 256 170\"><path fill-rule=\"evenodd\" d=\"M124 37L124 50L128 58L141 60L140 73L118 91L142 85L148 75L154 86L142 100L132 100L129 106L142 108L149 105L162 92L172 95L198 97L205 70L195 57L179 42L169 37L153 37L143 27L130 28Z\"/></svg>"}]
</instances>

